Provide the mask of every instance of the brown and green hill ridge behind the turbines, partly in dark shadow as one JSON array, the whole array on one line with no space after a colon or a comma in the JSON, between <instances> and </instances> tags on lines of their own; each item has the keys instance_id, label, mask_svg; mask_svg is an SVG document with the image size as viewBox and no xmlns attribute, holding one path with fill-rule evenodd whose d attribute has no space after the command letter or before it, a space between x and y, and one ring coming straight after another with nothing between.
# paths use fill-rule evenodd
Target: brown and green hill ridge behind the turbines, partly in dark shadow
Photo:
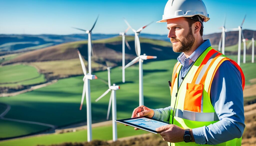
<instances>
[{"instance_id":1,"label":"brown and green hill ridge behind the turbines, partly in dark shadow","mask_svg":"<svg viewBox=\"0 0 256 146\"><path fill-rule=\"evenodd\" d=\"M136 56L134 49L134 37L127 36L127 41L131 46L131 50L126 48L127 63ZM156 60L166 60L176 58L178 53L172 50L172 43L141 38L142 53L148 55L161 56ZM94 40L93 43L93 61L105 64L106 61L112 62L116 65L121 65L122 62L122 37L112 37L102 40ZM87 41L75 41L62 43L55 46L46 47L43 49L33 50L19 55L18 57L5 61L2 65L20 63L20 62L41 62L54 60L69 60L78 58L76 50L79 50L83 57L87 60Z\"/></svg>"}]
</instances>

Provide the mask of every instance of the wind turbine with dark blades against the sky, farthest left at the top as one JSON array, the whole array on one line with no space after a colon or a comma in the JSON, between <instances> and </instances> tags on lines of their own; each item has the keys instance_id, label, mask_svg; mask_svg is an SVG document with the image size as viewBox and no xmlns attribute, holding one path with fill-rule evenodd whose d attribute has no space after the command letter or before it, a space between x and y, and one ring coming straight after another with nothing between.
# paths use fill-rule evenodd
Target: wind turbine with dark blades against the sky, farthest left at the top
<instances>
[{"instance_id":1,"label":"wind turbine with dark blades against the sky, farthest left at the top","mask_svg":"<svg viewBox=\"0 0 256 146\"><path fill-rule=\"evenodd\" d=\"M92 41L91 41L91 35L92 35L92 30L93 30L93 28L94 28L98 18L99 18L99 15L98 15L96 21L94 22L94 24L93 24L93 26L92 26L92 28L90 30L84 30L84 29L73 27L74 29L85 31L88 34L88 70L89 70L88 72L89 72L89 74L92 73L92 66L91 66Z\"/></svg>"}]
</instances>

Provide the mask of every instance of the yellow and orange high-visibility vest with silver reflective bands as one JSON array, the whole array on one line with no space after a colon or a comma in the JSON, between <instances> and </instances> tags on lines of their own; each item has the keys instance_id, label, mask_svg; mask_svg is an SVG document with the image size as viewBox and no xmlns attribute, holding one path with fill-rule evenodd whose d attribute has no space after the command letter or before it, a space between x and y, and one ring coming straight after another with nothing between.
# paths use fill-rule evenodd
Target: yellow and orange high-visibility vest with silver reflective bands
<instances>
[{"instance_id":1,"label":"yellow and orange high-visibility vest with silver reflective bands","mask_svg":"<svg viewBox=\"0 0 256 146\"><path fill-rule=\"evenodd\" d=\"M225 55L208 47L191 66L184 80L179 83L179 73L182 65L177 62L174 66L171 85L170 123L184 129L208 126L219 121L211 104L210 89L214 75L222 62L229 60L241 73L242 88L244 89L244 74L240 66ZM242 137L218 144L241 145ZM199 145L195 142L168 143L169 145ZM207 144L206 144L207 145Z\"/></svg>"}]
</instances>

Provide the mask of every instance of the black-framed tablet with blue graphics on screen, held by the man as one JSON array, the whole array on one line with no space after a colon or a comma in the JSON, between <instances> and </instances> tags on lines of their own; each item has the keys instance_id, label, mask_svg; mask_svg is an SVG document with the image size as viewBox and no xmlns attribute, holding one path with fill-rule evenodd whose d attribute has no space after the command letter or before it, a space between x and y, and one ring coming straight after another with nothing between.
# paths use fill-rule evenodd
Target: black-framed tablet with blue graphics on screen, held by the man
<instances>
[{"instance_id":1,"label":"black-framed tablet with blue graphics on screen, held by the man","mask_svg":"<svg viewBox=\"0 0 256 146\"><path fill-rule=\"evenodd\" d=\"M116 122L126 124L132 127L136 127L151 133L157 134L158 132L155 131L156 128L169 125L170 123L152 119L149 117L136 117L136 118L129 118L129 119L121 119L121 120L115 120Z\"/></svg>"}]
</instances>

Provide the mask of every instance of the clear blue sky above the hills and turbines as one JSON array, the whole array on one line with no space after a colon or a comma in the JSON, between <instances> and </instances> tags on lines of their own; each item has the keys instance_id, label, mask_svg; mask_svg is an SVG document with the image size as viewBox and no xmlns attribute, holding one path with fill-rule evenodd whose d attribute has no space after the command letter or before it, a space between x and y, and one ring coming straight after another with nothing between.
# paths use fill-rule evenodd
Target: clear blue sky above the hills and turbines
<instances>
[{"instance_id":1,"label":"clear blue sky above the hills and turbines","mask_svg":"<svg viewBox=\"0 0 256 146\"><path fill-rule=\"evenodd\" d=\"M0 0L0 34L74 34L72 29L90 29L99 14L93 33L119 33L127 26L134 29L162 19L167 0ZM243 3L244 2L244 3ZM210 20L204 34L220 32L224 15L226 28L237 28L247 14L243 29L256 30L256 1L204 0ZM132 33L132 31L129 31ZM153 23L142 33L167 34L166 23Z\"/></svg>"}]
</instances>

